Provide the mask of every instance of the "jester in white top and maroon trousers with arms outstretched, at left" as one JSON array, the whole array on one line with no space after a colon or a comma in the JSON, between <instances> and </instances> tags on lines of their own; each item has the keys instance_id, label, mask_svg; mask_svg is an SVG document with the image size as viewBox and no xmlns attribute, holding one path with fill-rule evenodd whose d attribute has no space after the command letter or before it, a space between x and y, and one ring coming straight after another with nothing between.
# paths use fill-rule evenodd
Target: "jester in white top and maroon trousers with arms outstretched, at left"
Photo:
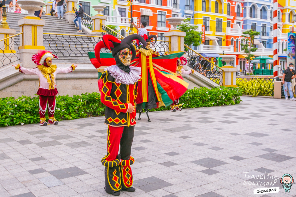
<instances>
[{"instance_id":1,"label":"jester in white top and maroon trousers with arms outstretched, at left","mask_svg":"<svg viewBox=\"0 0 296 197\"><path fill-rule=\"evenodd\" d=\"M57 125L58 121L55 120L55 95L59 94L56 89L55 77L58 73L68 73L75 70L77 64L72 64L68 68L60 69L55 64L52 64L53 58L59 58L52 54L50 51L40 50L37 54L32 56L32 61L37 65L35 69L26 69L18 65L13 65L19 72L28 75L38 75L39 77L39 89L37 95L39 95L39 125L47 126ZM46 122L45 113L48 106L48 123Z\"/></svg>"}]
</instances>

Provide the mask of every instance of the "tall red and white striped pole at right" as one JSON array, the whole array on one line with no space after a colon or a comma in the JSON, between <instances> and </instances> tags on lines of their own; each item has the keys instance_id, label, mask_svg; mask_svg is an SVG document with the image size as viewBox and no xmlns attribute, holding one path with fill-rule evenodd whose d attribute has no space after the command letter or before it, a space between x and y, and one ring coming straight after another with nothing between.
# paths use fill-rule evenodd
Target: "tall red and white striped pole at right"
<instances>
[{"instance_id":1,"label":"tall red and white striped pole at right","mask_svg":"<svg viewBox=\"0 0 296 197\"><path fill-rule=\"evenodd\" d=\"M278 0L273 0L273 77L278 76Z\"/></svg>"}]
</instances>

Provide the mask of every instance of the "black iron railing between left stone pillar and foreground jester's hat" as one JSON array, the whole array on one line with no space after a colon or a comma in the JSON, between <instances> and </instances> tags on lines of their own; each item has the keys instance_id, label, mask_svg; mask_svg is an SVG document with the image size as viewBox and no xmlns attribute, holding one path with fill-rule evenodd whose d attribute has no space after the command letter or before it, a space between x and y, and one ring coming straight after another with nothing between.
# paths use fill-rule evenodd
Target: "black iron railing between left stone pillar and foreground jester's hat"
<instances>
[{"instance_id":1,"label":"black iron railing between left stone pillar and foreground jester's hat","mask_svg":"<svg viewBox=\"0 0 296 197\"><path fill-rule=\"evenodd\" d=\"M101 40L100 36L43 33L45 49L57 56L88 57L88 52L94 52ZM109 50L103 48L101 52L108 53Z\"/></svg>"}]
</instances>

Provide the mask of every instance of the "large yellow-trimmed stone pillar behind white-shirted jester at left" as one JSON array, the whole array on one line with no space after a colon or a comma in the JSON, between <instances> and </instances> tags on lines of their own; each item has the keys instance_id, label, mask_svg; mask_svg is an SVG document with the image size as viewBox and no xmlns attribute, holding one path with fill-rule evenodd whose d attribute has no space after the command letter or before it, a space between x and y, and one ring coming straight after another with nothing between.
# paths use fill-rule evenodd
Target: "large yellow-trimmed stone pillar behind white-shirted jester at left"
<instances>
[{"instance_id":1,"label":"large yellow-trimmed stone pillar behind white-shirted jester at left","mask_svg":"<svg viewBox=\"0 0 296 197\"><path fill-rule=\"evenodd\" d=\"M21 40L18 54L20 55L22 64L26 68L35 68L36 65L32 62L33 54L38 50L45 50L43 46L43 26L44 20L39 17L24 17L17 22L20 26Z\"/></svg>"}]
</instances>

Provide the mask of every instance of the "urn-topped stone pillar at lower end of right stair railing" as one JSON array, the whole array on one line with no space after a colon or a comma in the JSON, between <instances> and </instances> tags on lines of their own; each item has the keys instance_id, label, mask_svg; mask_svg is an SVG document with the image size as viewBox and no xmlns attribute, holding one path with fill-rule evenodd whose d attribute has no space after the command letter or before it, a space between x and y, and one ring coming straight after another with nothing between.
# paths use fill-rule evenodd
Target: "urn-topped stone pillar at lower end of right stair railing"
<instances>
[{"instance_id":1,"label":"urn-topped stone pillar at lower end of right stair railing","mask_svg":"<svg viewBox=\"0 0 296 197\"><path fill-rule=\"evenodd\" d=\"M236 72L237 68L234 68L229 63L233 61L233 58L236 58L236 55L220 55L222 61L226 61L226 65L222 66L222 79L220 76L220 81L222 81L222 85L226 87L237 87L236 85Z\"/></svg>"}]
</instances>

